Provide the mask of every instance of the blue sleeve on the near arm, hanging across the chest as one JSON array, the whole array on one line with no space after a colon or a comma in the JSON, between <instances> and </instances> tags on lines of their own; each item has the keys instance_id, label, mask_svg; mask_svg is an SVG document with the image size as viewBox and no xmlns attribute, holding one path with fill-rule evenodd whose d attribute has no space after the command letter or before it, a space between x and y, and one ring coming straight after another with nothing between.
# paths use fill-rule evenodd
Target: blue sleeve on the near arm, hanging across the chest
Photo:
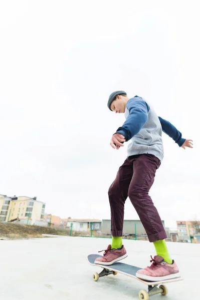
<instances>
[{"instance_id":1,"label":"blue sleeve on the near arm, hanging across the chest","mask_svg":"<svg viewBox=\"0 0 200 300\"><path fill-rule=\"evenodd\" d=\"M122 134L126 141L137 134L148 120L149 105L144 100L131 98L126 107L129 111L126 121L115 133Z\"/></svg>"}]
</instances>

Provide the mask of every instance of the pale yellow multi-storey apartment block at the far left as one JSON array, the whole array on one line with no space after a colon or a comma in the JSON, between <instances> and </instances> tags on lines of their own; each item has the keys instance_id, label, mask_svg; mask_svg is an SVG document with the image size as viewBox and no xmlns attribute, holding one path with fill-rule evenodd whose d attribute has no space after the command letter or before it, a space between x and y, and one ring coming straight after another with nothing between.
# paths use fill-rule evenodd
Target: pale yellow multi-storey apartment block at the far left
<instances>
[{"instance_id":1,"label":"pale yellow multi-storey apartment block at the far left","mask_svg":"<svg viewBox=\"0 0 200 300\"><path fill-rule=\"evenodd\" d=\"M15 218L29 217L32 224L36 220L43 220L45 203L38 201L37 197L15 196L9 197L0 194L0 221L10 221Z\"/></svg>"}]
</instances>

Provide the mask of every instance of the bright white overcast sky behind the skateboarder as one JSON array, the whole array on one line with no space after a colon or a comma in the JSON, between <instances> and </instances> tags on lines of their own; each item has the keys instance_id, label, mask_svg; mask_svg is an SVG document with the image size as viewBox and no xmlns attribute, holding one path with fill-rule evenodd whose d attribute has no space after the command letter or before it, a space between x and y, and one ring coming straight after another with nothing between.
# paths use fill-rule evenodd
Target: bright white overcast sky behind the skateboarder
<instances>
[{"instance_id":1,"label":"bright white overcast sky behind the skateboarder","mask_svg":"<svg viewBox=\"0 0 200 300\"><path fill-rule=\"evenodd\" d=\"M200 219L198 1L0 2L0 193L46 212L110 218L107 190L126 159L107 99L140 95L194 148L163 133L150 195L162 219ZM127 199L125 219L138 218Z\"/></svg>"}]
</instances>

